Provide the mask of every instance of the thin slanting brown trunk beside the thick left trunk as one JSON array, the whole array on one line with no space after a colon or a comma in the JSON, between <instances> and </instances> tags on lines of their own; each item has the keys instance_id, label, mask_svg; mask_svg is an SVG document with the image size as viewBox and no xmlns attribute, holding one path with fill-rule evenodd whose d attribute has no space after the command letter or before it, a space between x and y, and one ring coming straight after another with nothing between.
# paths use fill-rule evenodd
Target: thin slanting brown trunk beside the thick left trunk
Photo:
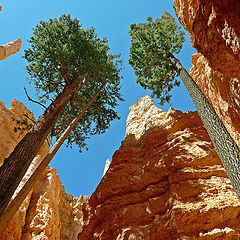
<instances>
[{"instance_id":1,"label":"thin slanting brown trunk beside the thick left trunk","mask_svg":"<svg viewBox=\"0 0 240 240\"><path fill-rule=\"evenodd\" d=\"M97 91L97 93L93 96L93 98L88 102L88 104L82 109L82 111L77 115L77 117L71 122L71 124L66 128L61 137L57 140L57 142L52 147L51 151L46 155L37 169L34 171L32 176L25 183L23 188L20 190L18 195L13 199L13 201L9 204L6 211L0 215L0 234L7 227L9 221L13 218L14 214L17 212L19 207L21 206L24 199L27 197L31 189L34 187L38 179L43 174L44 170L47 168L48 164L51 162L58 149L62 146L63 142L67 139L69 133L76 126L77 122L83 116L83 114L87 111L87 109L91 106L96 97L100 94L102 89L106 86L107 82Z\"/></svg>"}]
</instances>

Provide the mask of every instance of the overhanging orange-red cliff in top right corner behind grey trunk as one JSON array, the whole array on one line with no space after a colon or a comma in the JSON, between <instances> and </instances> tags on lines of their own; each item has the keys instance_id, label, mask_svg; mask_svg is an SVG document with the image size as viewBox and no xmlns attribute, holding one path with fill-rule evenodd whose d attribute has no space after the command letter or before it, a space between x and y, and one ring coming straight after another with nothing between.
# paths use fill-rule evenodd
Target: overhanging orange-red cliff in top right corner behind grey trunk
<instances>
[{"instance_id":1,"label":"overhanging orange-red cliff in top right corner behind grey trunk","mask_svg":"<svg viewBox=\"0 0 240 240\"><path fill-rule=\"evenodd\" d=\"M240 2L174 0L197 54L190 74L240 146Z\"/></svg>"}]
</instances>

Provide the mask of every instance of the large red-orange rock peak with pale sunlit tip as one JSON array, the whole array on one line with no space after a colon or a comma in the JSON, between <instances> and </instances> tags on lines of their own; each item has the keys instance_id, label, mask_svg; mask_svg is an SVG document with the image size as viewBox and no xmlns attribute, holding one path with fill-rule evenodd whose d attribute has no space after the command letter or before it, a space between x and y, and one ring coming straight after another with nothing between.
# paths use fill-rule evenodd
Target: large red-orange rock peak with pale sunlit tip
<instances>
[{"instance_id":1,"label":"large red-orange rock peak with pale sunlit tip","mask_svg":"<svg viewBox=\"0 0 240 240\"><path fill-rule=\"evenodd\" d=\"M130 107L79 240L240 239L240 203L196 112Z\"/></svg>"}]
</instances>

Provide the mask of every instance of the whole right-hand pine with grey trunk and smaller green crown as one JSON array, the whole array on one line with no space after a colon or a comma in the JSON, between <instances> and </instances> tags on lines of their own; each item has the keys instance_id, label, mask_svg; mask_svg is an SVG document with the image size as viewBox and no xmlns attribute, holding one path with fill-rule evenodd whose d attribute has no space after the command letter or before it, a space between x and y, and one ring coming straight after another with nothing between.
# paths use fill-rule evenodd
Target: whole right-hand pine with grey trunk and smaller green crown
<instances>
[{"instance_id":1,"label":"whole right-hand pine with grey trunk and smaller green crown","mask_svg":"<svg viewBox=\"0 0 240 240\"><path fill-rule=\"evenodd\" d=\"M131 24L129 34L129 64L135 71L137 82L152 90L152 96L162 105L170 101L170 91L179 86L177 77L180 77L240 199L240 149L198 85L173 55L183 46L184 32L171 14L165 12L155 21L148 17L146 23Z\"/></svg>"}]
</instances>

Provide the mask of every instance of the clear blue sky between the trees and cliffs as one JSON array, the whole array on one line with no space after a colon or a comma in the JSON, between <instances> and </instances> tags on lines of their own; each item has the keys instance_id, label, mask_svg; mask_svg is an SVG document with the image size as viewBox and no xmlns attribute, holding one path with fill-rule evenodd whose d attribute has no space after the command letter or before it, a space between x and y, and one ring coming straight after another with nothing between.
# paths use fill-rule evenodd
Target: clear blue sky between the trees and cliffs
<instances>
[{"instance_id":1,"label":"clear blue sky between the trees and cliffs","mask_svg":"<svg viewBox=\"0 0 240 240\"><path fill-rule=\"evenodd\" d=\"M23 86L27 87L29 94L35 97L34 87L29 85L27 80L27 63L22 59L22 55L23 50L29 47L27 40L32 35L32 29L40 20L70 13L72 17L80 20L84 28L93 26L100 37L106 37L113 53L122 54L124 69L121 92L125 102L121 102L117 108L121 120L112 122L105 134L91 137L88 151L79 153L76 147L70 149L62 146L50 164L57 168L68 193L75 196L82 193L92 194L101 180L106 159L112 158L124 139L129 106L136 103L140 97L151 94L135 83L133 70L128 65L130 24L143 22L148 16L160 17L164 10L176 18L172 4L171 0L8 0L1 3L3 10L0 12L0 44L17 38L21 38L23 42L17 54L0 62L0 101L7 107L10 107L12 99L16 98L33 111L36 117L43 112L41 107L27 100L23 90ZM191 66L191 55L194 52L186 33L186 42L178 58L187 70ZM172 94L171 105L175 109L195 110L183 84L173 90ZM157 100L155 103L157 105ZM168 108L169 105L162 107L164 111Z\"/></svg>"}]
</instances>

